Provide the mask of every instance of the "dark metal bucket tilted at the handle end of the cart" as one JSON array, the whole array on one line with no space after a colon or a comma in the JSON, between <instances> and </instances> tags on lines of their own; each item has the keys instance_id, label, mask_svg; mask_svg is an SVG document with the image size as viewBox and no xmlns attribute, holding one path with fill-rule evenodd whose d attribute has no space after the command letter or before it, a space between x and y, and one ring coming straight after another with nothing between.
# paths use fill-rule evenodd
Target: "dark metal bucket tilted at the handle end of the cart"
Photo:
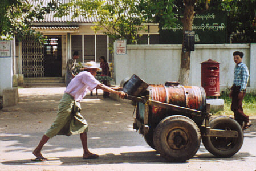
<instances>
[{"instance_id":1,"label":"dark metal bucket tilted at the handle end of the cart","mask_svg":"<svg viewBox=\"0 0 256 171\"><path fill-rule=\"evenodd\" d=\"M144 80L140 79L139 76L133 74L132 77L125 83L123 91L130 96L140 96L146 91L148 84Z\"/></svg>"}]
</instances>

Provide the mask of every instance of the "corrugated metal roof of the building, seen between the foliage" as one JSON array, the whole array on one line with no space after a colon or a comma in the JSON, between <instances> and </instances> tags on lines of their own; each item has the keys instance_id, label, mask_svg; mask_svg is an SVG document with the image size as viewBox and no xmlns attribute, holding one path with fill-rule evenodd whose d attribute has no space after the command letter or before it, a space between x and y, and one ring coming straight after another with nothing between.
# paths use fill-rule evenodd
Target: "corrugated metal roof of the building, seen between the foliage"
<instances>
[{"instance_id":1,"label":"corrugated metal roof of the building, seen between the foliage","mask_svg":"<svg viewBox=\"0 0 256 171\"><path fill-rule=\"evenodd\" d=\"M72 0L59 0L59 2L61 3L68 3ZM34 0L28 0L28 2L30 3L30 5L33 5L34 7L38 6L38 4L43 3L43 5L47 5L48 2L50 2L50 0L38 0L38 1L34 1ZM51 13L46 14L44 16L44 19L38 21L38 20L34 20L32 22L77 22L77 23L93 23L96 22L97 19L94 17L88 17L88 18L84 18L83 16L79 16L73 19L73 21L71 21L71 16L72 14L69 14L67 16L63 16L61 18L59 17L54 17L54 11L51 11Z\"/></svg>"}]
</instances>

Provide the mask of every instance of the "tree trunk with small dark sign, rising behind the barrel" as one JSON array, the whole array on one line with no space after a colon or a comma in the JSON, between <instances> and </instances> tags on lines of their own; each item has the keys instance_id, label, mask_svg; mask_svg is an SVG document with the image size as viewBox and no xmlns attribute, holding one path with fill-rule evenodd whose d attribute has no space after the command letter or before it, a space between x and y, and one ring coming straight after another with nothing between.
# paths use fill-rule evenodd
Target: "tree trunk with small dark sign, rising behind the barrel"
<instances>
[{"instance_id":1,"label":"tree trunk with small dark sign, rising behind the barrel","mask_svg":"<svg viewBox=\"0 0 256 171\"><path fill-rule=\"evenodd\" d=\"M185 10L182 18L183 23L183 41L182 41L182 52L181 52L181 65L180 65L180 75L178 77L178 82L182 85L188 85L189 83L189 71L190 71L190 51L183 51L184 44L184 32L192 30L192 23L194 17L194 1L184 1Z\"/></svg>"}]
</instances>

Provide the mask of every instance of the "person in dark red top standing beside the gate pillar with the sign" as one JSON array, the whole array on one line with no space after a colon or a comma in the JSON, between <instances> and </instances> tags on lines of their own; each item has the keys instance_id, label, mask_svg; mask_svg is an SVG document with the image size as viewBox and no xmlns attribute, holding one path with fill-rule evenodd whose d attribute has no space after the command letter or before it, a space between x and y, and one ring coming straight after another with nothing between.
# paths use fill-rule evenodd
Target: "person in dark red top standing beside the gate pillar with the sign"
<instances>
[{"instance_id":1,"label":"person in dark red top standing beside the gate pillar with the sign","mask_svg":"<svg viewBox=\"0 0 256 171\"><path fill-rule=\"evenodd\" d=\"M100 68L101 68L101 76L111 76L108 62L104 56L100 56ZM108 80L104 80L103 84L105 84L106 86L110 86L110 83ZM103 98L108 98L108 97L109 97L109 92L104 91Z\"/></svg>"}]
</instances>

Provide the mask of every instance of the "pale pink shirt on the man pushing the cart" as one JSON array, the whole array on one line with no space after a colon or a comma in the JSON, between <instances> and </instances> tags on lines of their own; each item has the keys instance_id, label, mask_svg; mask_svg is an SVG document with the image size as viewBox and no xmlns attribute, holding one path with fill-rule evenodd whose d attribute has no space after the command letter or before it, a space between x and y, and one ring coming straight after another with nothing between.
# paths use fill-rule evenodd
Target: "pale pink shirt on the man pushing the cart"
<instances>
[{"instance_id":1,"label":"pale pink shirt on the man pushing the cart","mask_svg":"<svg viewBox=\"0 0 256 171\"><path fill-rule=\"evenodd\" d=\"M86 96L87 91L92 91L99 84L101 83L90 72L79 72L68 84L64 93L74 97L75 101L81 101Z\"/></svg>"}]
</instances>

